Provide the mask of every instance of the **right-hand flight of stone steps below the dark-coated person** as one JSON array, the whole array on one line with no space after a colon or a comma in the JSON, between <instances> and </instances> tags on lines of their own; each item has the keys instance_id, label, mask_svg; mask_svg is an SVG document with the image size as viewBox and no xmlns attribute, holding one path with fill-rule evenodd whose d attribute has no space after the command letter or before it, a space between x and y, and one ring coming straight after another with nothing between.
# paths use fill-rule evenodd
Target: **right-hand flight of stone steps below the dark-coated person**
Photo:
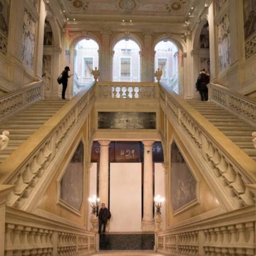
<instances>
[{"instance_id":1,"label":"right-hand flight of stone steps below the dark-coated person","mask_svg":"<svg viewBox=\"0 0 256 256\"><path fill-rule=\"evenodd\" d=\"M188 100L188 103L256 161L256 149L252 142L255 127L214 102Z\"/></svg>"}]
</instances>

